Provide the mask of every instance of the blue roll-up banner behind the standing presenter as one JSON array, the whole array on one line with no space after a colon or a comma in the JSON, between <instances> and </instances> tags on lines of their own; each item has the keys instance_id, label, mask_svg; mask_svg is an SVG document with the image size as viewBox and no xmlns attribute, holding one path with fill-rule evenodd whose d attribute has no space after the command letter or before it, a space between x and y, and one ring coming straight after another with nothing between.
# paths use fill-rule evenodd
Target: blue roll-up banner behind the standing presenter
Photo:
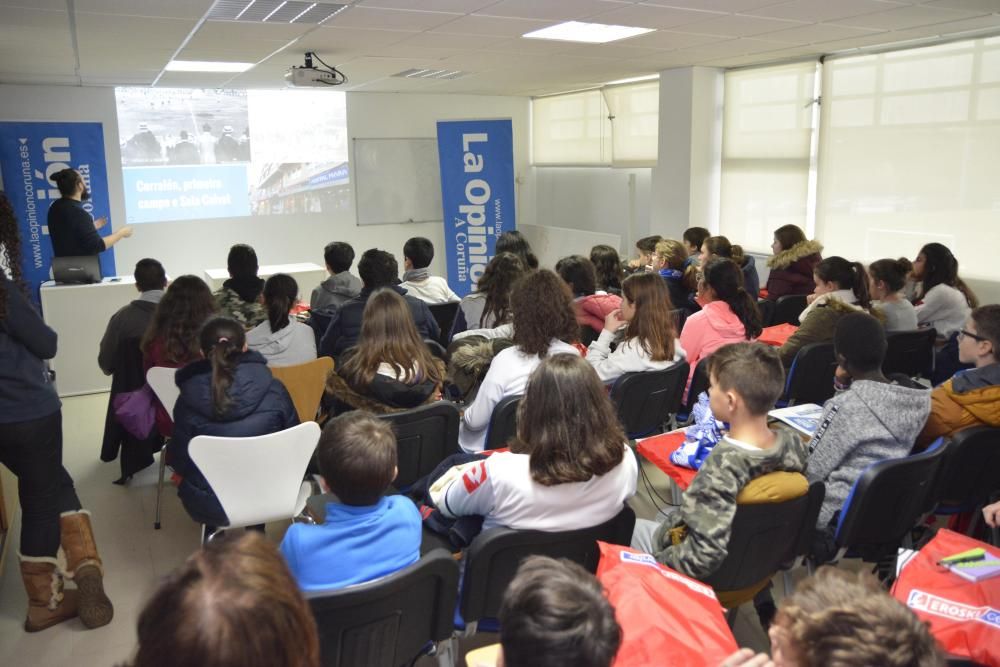
<instances>
[{"instance_id":1,"label":"blue roll-up banner behind the standing presenter","mask_svg":"<svg viewBox=\"0 0 1000 667\"><path fill-rule=\"evenodd\" d=\"M60 197L49 177L66 167L83 177L90 190L90 199L83 207L94 219L107 218L108 224L98 230L107 236L111 233L111 205L101 124L0 122L0 172L21 227L24 279L35 303L39 286L49 279L52 263L49 205ZM113 253L101 253L102 275L115 275Z\"/></svg>"}]
</instances>

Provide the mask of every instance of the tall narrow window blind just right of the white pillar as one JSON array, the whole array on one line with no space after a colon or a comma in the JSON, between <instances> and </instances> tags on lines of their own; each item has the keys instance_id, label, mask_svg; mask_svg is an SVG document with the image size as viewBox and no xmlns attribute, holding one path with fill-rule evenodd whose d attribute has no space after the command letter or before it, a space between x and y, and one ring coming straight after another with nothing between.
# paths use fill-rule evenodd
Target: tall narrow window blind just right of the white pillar
<instances>
[{"instance_id":1,"label":"tall narrow window blind just right of the white pillar","mask_svg":"<svg viewBox=\"0 0 1000 667\"><path fill-rule=\"evenodd\" d=\"M770 254L773 232L810 222L815 62L726 72L720 232Z\"/></svg>"}]
</instances>

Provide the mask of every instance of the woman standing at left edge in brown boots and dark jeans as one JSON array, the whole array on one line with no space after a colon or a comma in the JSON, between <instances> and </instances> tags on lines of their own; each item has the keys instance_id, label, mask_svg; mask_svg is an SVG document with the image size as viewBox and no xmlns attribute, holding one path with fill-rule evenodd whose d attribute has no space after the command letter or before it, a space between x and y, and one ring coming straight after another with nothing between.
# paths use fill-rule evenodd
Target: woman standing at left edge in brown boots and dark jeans
<instances>
[{"instance_id":1,"label":"woman standing at left edge in brown boots and dark jeans","mask_svg":"<svg viewBox=\"0 0 1000 667\"><path fill-rule=\"evenodd\" d=\"M0 193L0 463L17 476L21 503L21 578L28 591L24 629L43 630L79 615L96 628L114 609L103 567L73 479L62 463L62 406L44 359L56 354L56 332L28 301L21 278L21 238ZM66 569L56 553L62 544ZM63 591L63 577L77 590Z\"/></svg>"}]
</instances>

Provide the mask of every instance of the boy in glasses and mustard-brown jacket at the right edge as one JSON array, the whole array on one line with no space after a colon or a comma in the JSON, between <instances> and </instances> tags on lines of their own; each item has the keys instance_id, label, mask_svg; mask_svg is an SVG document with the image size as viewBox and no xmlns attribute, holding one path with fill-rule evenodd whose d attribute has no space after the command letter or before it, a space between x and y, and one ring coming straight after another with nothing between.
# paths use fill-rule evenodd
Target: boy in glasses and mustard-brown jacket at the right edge
<instances>
[{"instance_id":1,"label":"boy in glasses and mustard-brown jacket at the right edge","mask_svg":"<svg viewBox=\"0 0 1000 667\"><path fill-rule=\"evenodd\" d=\"M931 414L917 448L924 449L939 436L948 436L971 426L1000 426L1000 305L980 306L972 311L958 332L958 357L975 364L959 371L931 392Z\"/></svg>"}]
</instances>

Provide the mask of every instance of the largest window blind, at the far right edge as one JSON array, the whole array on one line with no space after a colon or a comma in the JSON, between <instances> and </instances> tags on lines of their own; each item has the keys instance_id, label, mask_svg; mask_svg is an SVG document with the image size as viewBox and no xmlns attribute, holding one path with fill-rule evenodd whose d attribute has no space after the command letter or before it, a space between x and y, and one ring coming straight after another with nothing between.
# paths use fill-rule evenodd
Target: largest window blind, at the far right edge
<instances>
[{"instance_id":1,"label":"largest window blind, at the far right edge","mask_svg":"<svg viewBox=\"0 0 1000 667\"><path fill-rule=\"evenodd\" d=\"M949 246L996 278L1000 38L825 65L817 236L871 261Z\"/></svg>"}]
</instances>

